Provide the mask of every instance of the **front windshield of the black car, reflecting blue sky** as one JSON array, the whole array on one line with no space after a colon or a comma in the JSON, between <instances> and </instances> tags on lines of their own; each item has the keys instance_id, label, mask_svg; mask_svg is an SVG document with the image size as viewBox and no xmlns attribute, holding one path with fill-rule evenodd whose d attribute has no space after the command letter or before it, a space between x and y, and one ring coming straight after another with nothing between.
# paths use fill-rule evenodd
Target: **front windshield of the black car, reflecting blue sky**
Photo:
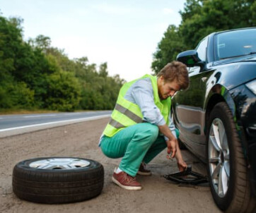
<instances>
[{"instance_id":1,"label":"front windshield of the black car, reflecting blue sky","mask_svg":"<svg viewBox=\"0 0 256 213\"><path fill-rule=\"evenodd\" d=\"M216 60L256 53L256 28L216 34L215 50Z\"/></svg>"}]
</instances>

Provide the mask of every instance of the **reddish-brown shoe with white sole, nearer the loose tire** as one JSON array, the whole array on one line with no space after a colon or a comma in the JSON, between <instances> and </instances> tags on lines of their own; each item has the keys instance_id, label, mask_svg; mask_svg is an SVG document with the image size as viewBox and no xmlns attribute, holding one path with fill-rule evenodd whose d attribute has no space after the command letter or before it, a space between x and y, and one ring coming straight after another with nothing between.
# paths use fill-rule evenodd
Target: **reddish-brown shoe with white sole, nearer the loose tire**
<instances>
[{"instance_id":1,"label":"reddish-brown shoe with white sole, nearer the loose tire","mask_svg":"<svg viewBox=\"0 0 256 213\"><path fill-rule=\"evenodd\" d=\"M112 181L122 188L127 190L141 190L141 184L136 181L136 179L129 174L121 171L120 173L115 173L112 176Z\"/></svg>"}]
</instances>

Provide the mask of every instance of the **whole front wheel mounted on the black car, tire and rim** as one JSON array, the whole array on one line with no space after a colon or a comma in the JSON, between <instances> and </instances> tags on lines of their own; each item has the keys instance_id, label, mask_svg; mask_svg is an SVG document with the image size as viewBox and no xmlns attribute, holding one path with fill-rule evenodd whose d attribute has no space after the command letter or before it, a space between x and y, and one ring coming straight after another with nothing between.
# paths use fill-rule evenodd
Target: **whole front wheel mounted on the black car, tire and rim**
<instances>
[{"instance_id":1,"label":"whole front wheel mounted on the black car, tire and rim","mask_svg":"<svg viewBox=\"0 0 256 213\"><path fill-rule=\"evenodd\" d=\"M231 111L224 102L216 104L209 117L206 157L216 205L225 212L249 212L249 208L255 212L243 148Z\"/></svg>"}]
</instances>

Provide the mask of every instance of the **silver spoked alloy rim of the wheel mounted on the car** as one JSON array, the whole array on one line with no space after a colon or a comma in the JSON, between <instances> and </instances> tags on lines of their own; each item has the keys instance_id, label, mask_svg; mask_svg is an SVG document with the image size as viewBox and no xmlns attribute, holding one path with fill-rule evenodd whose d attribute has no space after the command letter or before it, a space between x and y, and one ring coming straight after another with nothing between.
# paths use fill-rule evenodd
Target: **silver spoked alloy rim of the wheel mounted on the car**
<instances>
[{"instance_id":1,"label":"silver spoked alloy rim of the wheel mounted on the car","mask_svg":"<svg viewBox=\"0 0 256 213\"><path fill-rule=\"evenodd\" d=\"M223 122L215 118L211 123L208 141L209 172L214 190L219 197L228 191L230 178L230 152Z\"/></svg>"}]
</instances>

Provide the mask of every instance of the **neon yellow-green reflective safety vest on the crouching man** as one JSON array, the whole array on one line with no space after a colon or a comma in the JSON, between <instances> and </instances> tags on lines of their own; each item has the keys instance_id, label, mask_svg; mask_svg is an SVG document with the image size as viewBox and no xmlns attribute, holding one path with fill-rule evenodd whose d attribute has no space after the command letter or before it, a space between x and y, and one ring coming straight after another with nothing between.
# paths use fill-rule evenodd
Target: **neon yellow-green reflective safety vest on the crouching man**
<instances>
[{"instance_id":1,"label":"neon yellow-green reflective safety vest on the crouching man","mask_svg":"<svg viewBox=\"0 0 256 213\"><path fill-rule=\"evenodd\" d=\"M163 118L165 119L165 122L168 124L168 116L170 114L170 97L164 100L160 100L158 96L158 87L157 87L157 78L156 76L152 75L144 75L142 78L150 78L152 87L153 87L153 100L156 104L156 107L160 109L161 114L163 115ZM139 79L142 79L139 78ZM137 80L133 80L129 83L125 83L119 92L119 95L117 97L117 103L115 105L115 109L112 111L110 122L107 123L107 126L105 130L103 131L103 135L107 135L107 137L112 137L116 133L118 133L123 128L126 128L127 126L132 126L136 123L142 123L143 122L143 115L141 113L141 109L137 104L134 104L132 102L129 102L127 99L124 99L124 96L134 83L136 83Z\"/></svg>"}]
</instances>

